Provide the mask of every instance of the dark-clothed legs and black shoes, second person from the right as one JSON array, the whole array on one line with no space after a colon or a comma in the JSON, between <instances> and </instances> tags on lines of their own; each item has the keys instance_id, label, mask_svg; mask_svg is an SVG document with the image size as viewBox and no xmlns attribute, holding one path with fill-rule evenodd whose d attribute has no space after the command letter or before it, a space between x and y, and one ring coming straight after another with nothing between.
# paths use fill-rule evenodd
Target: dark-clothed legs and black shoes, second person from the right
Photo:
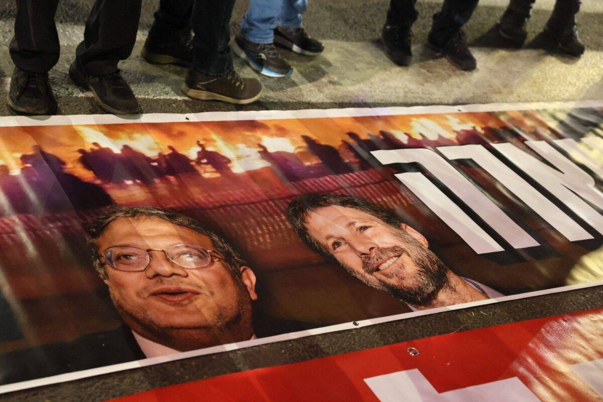
<instances>
[{"instance_id":1,"label":"dark-clothed legs and black shoes, second person from the right","mask_svg":"<svg viewBox=\"0 0 603 402\"><path fill-rule=\"evenodd\" d=\"M381 34L385 54L399 66L411 64L411 27L418 17L416 2L391 0ZM467 46L467 36L461 29L477 6L478 0L444 0L440 12L434 14L429 32L428 47L464 71L477 68L475 57Z\"/></svg>"}]
</instances>

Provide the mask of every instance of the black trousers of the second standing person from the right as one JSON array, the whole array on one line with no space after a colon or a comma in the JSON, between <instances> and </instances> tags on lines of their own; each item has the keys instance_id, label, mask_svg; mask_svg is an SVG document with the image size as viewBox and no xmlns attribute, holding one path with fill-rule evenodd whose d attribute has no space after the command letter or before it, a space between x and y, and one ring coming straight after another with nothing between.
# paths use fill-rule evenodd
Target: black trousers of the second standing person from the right
<instances>
[{"instance_id":1,"label":"black trousers of the second standing person from the right","mask_svg":"<svg viewBox=\"0 0 603 402\"><path fill-rule=\"evenodd\" d=\"M391 0L386 24L410 28L418 17L416 3L417 0ZM435 45L446 45L467 24L476 7L478 0L444 0L440 12L434 14L434 24L431 27Z\"/></svg>"}]
</instances>

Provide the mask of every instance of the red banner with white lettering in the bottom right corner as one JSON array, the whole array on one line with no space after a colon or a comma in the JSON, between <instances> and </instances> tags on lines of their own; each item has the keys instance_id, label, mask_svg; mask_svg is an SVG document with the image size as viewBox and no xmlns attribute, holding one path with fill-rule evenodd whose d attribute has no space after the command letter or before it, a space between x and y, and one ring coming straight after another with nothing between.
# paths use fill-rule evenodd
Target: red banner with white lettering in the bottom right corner
<instances>
[{"instance_id":1,"label":"red banner with white lettering in the bottom right corner","mask_svg":"<svg viewBox=\"0 0 603 402\"><path fill-rule=\"evenodd\" d=\"M221 375L115 402L600 401L603 309Z\"/></svg>"}]
</instances>

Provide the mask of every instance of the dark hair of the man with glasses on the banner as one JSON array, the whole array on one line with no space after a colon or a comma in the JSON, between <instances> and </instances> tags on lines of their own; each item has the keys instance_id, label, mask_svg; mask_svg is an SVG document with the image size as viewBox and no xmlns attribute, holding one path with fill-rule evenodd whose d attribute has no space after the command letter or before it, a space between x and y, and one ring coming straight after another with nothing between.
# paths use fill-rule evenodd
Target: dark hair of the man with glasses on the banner
<instances>
[{"instance_id":1,"label":"dark hair of the man with glasses on the banner","mask_svg":"<svg viewBox=\"0 0 603 402\"><path fill-rule=\"evenodd\" d=\"M109 225L121 218L134 218L134 219L142 219L142 218L159 218L163 219L163 221L169 222L174 225L182 226L185 228L189 228L198 233L204 234L209 237L212 241L213 247L216 248L224 259L232 269L233 274L236 274L236 277L239 277L239 268L245 264L245 262L241 259L241 256L232 248L232 246L226 242L222 237L219 237L217 234L213 233L203 226L195 219L189 218L186 215L181 215L179 213L169 212L160 208L154 207L133 207L133 208L122 208L112 210L110 212L105 213L104 215L98 216L93 219L86 227L86 231L88 234L88 248L90 253L92 254L92 262L94 264L94 268L101 276L101 278L106 278L105 271L103 269L103 263L100 260L100 256L98 254L98 244L96 243L96 239L98 239L101 234L109 227Z\"/></svg>"}]
</instances>

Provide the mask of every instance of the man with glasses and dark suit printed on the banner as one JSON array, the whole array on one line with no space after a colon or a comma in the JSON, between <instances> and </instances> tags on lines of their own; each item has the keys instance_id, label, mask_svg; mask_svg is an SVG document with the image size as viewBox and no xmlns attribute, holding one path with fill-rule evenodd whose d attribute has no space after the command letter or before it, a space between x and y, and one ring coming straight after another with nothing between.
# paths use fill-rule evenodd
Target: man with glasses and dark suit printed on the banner
<instances>
[{"instance_id":1,"label":"man with glasses and dark suit printed on the banner","mask_svg":"<svg viewBox=\"0 0 603 402\"><path fill-rule=\"evenodd\" d=\"M188 216L119 209L87 228L93 263L125 325L0 358L0 384L255 338L256 277Z\"/></svg>"}]
</instances>

